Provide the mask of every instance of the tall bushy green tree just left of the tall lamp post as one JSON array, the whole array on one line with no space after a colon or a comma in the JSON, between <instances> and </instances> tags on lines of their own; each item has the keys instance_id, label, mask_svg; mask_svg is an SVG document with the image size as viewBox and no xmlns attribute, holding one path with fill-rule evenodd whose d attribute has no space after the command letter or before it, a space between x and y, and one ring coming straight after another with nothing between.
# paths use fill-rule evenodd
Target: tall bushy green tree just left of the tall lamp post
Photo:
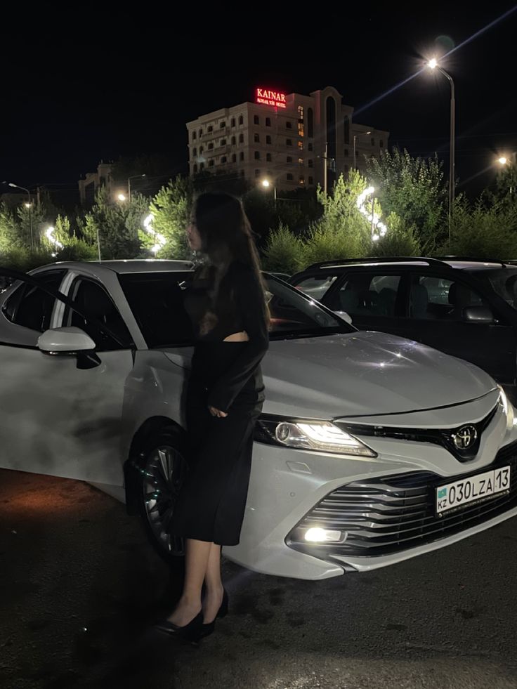
<instances>
[{"instance_id":1,"label":"tall bushy green tree just left of the tall lamp post","mask_svg":"<svg viewBox=\"0 0 517 689\"><path fill-rule=\"evenodd\" d=\"M438 159L414 158L407 150L386 151L367 161L367 174L384 212L414 228L421 249L436 249L447 234L447 188Z\"/></svg>"}]
</instances>

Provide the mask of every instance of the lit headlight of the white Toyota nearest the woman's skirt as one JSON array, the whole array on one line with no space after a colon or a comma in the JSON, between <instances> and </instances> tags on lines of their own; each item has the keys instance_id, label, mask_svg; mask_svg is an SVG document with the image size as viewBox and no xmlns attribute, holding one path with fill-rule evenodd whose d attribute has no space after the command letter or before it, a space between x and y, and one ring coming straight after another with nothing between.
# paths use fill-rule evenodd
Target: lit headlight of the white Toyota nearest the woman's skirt
<instances>
[{"instance_id":1,"label":"lit headlight of the white Toyota nearest the woman's skirt","mask_svg":"<svg viewBox=\"0 0 517 689\"><path fill-rule=\"evenodd\" d=\"M377 457L370 447L331 421L297 421L261 417L256 424L255 440L284 445L298 450Z\"/></svg>"}]
</instances>

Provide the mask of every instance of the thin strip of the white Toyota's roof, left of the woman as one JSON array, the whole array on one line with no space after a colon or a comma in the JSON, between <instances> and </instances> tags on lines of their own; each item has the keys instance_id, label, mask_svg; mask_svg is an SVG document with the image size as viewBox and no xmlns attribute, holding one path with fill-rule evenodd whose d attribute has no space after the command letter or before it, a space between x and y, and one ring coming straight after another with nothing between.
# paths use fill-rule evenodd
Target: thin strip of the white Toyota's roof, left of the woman
<instances>
[{"instance_id":1,"label":"thin strip of the white Toyota's roof, left of the woman","mask_svg":"<svg viewBox=\"0 0 517 689\"><path fill-rule=\"evenodd\" d=\"M192 261L169 261L157 258L136 258L124 261L57 261L41 265L31 273L40 273L41 270L51 268L65 268L66 270L80 270L96 277L103 277L108 272L124 275L127 273L174 273L178 271L192 270Z\"/></svg>"}]
</instances>

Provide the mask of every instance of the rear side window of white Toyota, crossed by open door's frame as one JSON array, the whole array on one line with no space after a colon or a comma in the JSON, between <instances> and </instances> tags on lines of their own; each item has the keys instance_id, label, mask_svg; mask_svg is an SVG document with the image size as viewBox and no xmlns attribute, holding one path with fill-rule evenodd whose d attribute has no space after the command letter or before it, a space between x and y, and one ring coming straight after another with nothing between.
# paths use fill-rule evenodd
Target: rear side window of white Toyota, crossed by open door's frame
<instances>
[{"instance_id":1,"label":"rear side window of white Toyota, crossed by open door's frame","mask_svg":"<svg viewBox=\"0 0 517 689\"><path fill-rule=\"evenodd\" d=\"M64 270L53 270L34 277L52 289L59 289L63 275ZM55 299L46 291L23 282L7 299L3 311L11 323L37 332L45 332L51 325L54 303Z\"/></svg>"}]
</instances>

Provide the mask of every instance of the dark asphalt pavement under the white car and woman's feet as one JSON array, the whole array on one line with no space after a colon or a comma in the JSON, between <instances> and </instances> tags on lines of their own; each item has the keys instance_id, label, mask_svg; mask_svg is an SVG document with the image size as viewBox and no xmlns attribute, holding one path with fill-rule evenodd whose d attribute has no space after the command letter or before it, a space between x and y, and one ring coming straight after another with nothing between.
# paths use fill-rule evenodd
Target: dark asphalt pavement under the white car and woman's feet
<instances>
[{"instance_id":1,"label":"dark asphalt pavement under the white car and woman's feet","mask_svg":"<svg viewBox=\"0 0 517 689\"><path fill-rule=\"evenodd\" d=\"M2 689L517 688L517 520L324 582L225 563L199 648L152 630L178 577L89 485L0 471Z\"/></svg>"}]
</instances>

